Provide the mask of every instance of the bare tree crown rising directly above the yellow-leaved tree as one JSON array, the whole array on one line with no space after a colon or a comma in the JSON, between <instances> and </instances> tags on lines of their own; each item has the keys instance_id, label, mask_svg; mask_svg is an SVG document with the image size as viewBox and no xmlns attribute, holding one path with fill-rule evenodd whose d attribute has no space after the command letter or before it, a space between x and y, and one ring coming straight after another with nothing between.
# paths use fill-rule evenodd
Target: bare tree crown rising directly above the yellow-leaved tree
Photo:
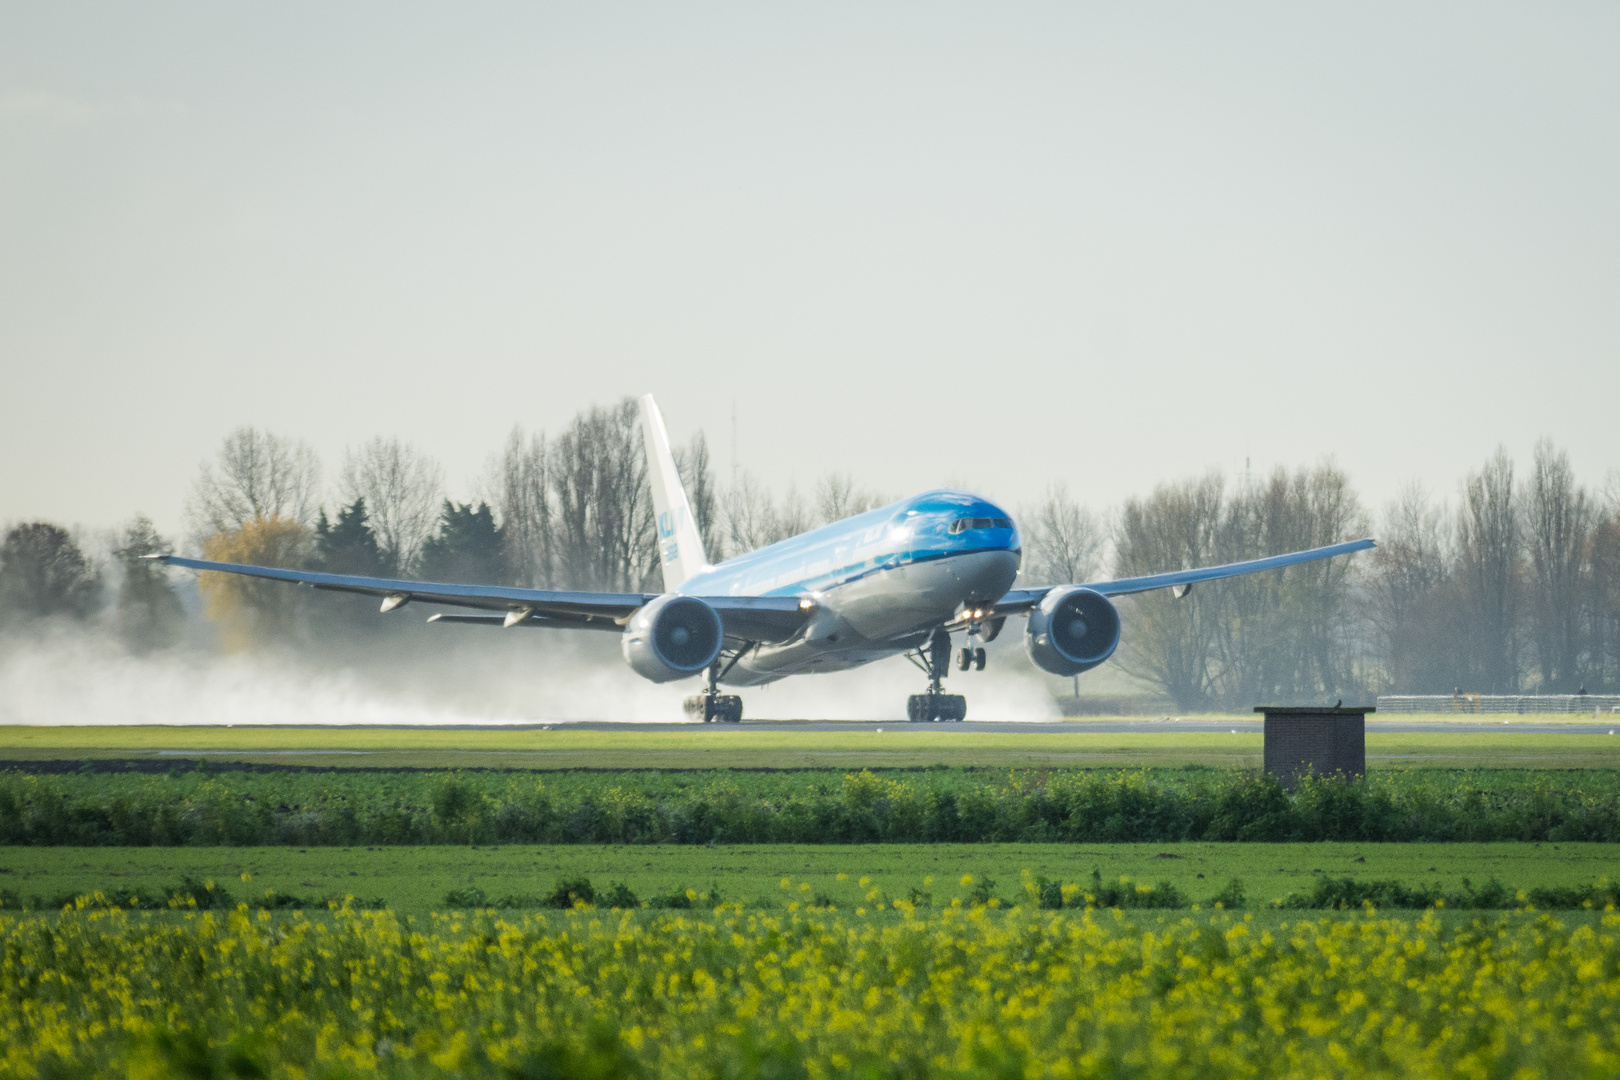
<instances>
[{"instance_id":1,"label":"bare tree crown rising directly above the yellow-leaved tree","mask_svg":"<svg viewBox=\"0 0 1620 1080\"><path fill-rule=\"evenodd\" d=\"M309 525L319 487L321 463L308 444L238 427L225 436L214 465L202 465L186 515L198 539L254 520Z\"/></svg>"}]
</instances>

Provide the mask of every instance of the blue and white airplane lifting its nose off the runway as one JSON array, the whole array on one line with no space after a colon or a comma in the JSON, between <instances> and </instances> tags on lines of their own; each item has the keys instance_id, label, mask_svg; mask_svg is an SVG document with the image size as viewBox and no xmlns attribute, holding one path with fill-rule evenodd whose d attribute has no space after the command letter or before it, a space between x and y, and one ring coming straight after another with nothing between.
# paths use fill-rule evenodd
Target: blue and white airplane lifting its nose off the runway
<instances>
[{"instance_id":1,"label":"blue and white airplane lifting its nose off the runway","mask_svg":"<svg viewBox=\"0 0 1620 1080\"><path fill-rule=\"evenodd\" d=\"M742 698L721 693L723 683L760 687L906 656L928 680L927 690L907 699L907 719L935 722L967 717L967 698L944 691L956 633L966 636L957 669L983 670L983 643L1022 615L1030 661L1053 675L1079 675L1119 644L1119 612L1110 597L1166 588L1181 597L1204 581L1375 546L1358 539L1221 567L1013 588L1022 555L1013 515L972 492L938 489L711 565L663 415L651 395L640 406L663 593L569 593L147 559L379 596L382 612L405 604L480 612L441 612L431 623L619 633L625 662L643 678L706 678L703 691L685 699L687 716L703 722L742 721Z\"/></svg>"}]
</instances>

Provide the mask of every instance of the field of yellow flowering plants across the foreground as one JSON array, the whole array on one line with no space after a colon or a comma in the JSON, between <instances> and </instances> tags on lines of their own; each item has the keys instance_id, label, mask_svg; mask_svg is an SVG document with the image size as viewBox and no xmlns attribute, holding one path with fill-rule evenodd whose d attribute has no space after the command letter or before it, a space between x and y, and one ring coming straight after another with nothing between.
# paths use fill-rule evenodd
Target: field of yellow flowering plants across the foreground
<instances>
[{"instance_id":1,"label":"field of yellow flowering plants across the foreground","mask_svg":"<svg viewBox=\"0 0 1620 1080\"><path fill-rule=\"evenodd\" d=\"M0 1075L1612 1077L1620 915L0 916Z\"/></svg>"}]
</instances>

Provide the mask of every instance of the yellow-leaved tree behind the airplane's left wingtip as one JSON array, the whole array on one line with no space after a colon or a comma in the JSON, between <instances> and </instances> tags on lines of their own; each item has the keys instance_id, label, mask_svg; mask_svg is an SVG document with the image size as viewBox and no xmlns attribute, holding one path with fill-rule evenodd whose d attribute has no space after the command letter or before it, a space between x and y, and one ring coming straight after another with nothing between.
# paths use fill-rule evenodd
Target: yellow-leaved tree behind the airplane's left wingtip
<instances>
[{"instance_id":1,"label":"yellow-leaved tree behind the airplane's left wingtip","mask_svg":"<svg viewBox=\"0 0 1620 1080\"><path fill-rule=\"evenodd\" d=\"M298 568L309 554L309 528L298 521L258 517L240 529L211 536L202 542L202 557L212 562ZM207 617L219 627L220 641L230 653L246 653L293 633L300 591L285 581L204 570L198 575L198 589Z\"/></svg>"}]
</instances>

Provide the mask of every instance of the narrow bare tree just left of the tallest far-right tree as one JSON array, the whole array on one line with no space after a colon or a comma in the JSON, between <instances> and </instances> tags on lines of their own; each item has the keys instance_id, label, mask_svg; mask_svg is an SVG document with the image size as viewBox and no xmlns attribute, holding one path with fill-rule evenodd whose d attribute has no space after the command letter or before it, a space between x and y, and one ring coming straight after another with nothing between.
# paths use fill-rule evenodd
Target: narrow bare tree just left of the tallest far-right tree
<instances>
[{"instance_id":1,"label":"narrow bare tree just left of the tallest far-right tree","mask_svg":"<svg viewBox=\"0 0 1620 1080\"><path fill-rule=\"evenodd\" d=\"M1456 520L1458 572L1469 604L1471 675L1481 690L1513 693L1520 683L1520 560L1523 538L1513 497L1513 461L1497 449L1463 481Z\"/></svg>"}]
</instances>

